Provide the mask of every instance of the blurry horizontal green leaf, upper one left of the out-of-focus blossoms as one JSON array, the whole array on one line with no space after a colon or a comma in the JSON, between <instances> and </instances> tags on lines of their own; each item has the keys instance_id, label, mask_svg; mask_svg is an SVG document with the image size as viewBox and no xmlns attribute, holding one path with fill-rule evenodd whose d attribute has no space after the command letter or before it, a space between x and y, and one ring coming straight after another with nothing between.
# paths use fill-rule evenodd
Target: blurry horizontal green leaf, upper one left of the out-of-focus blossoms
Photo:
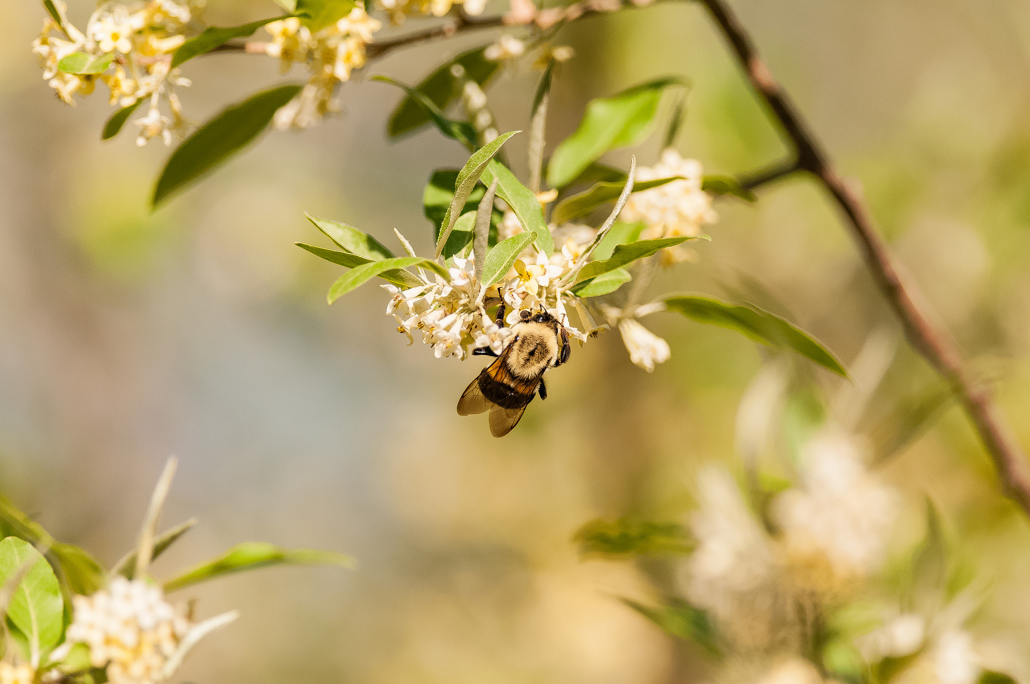
<instances>
[{"instance_id":1,"label":"blurry horizontal green leaf, upper one left of the out-of-focus blossoms","mask_svg":"<svg viewBox=\"0 0 1030 684\"><path fill-rule=\"evenodd\" d=\"M690 536L680 523L629 517L591 520L576 532L573 540L579 543L580 555L588 557L678 555L693 549Z\"/></svg>"}]
</instances>

